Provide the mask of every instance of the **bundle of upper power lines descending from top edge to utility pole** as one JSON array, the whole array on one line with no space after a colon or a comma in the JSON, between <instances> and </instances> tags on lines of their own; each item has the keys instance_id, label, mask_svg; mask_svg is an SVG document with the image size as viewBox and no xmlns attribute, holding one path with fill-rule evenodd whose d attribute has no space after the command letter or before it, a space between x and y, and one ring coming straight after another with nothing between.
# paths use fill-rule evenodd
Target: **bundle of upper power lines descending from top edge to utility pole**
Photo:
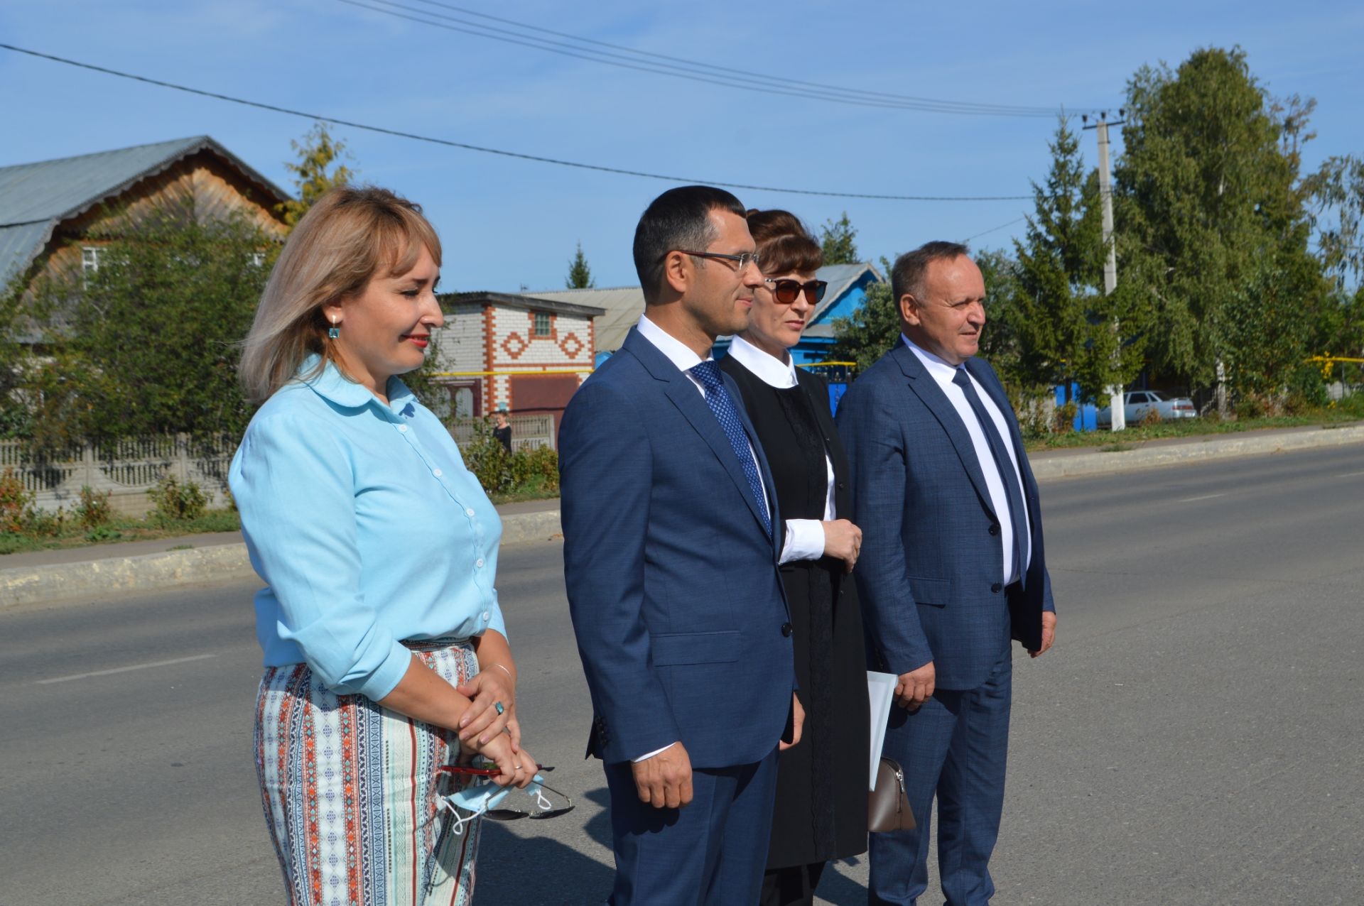
<instances>
[{"instance_id":1,"label":"bundle of upper power lines descending from top edge to utility pole","mask_svg":"<svg viewBox=\"0 0 1364 906\"><path fill-rule=\"evenodd\" d=\"M443 29L446 31L456 31L461 34L471 34L475 37L490 38L492 41L502 41L505 44L513 44L524 48L533 48L537 50L544 50L547 53L555 53L559 56L573 57L577 60L587 60L589 63L600 63L604 65L618 67L623 69L652 72L655 75L686 79L689 82L700 82L705 84L716 84L726 89L754 91L760 94L777 94L777 95L795 97L813 101L848 104L854 106L918 110L929 113L952 113L962 116L1054 117L1060 113L1060 109L1056 108L1019 106L1019 105L1005 105L1005 104L978 104L967 101L943 101L936 98L921 98L914 95L888 94L881 91L862 91L857 89L843 89L839 86L822 84L818 82L802 82L797 79L768 76L757 72L750 72L746 69L716 67L705 63L698 63L694 60L686 60L682 57L645 53L642 50L634 50L623 45L607 44L604 41L595 41L592 38L580 38L572 34L566 34L563 31L540 29L539 26L520 23L512 19L490 16L486 14L465 10L462 7L456 7L446 3L436 3L435 0L416 0L416 1L432 7L441 7L445 10L454 10L464 15L475 15L479 18L507 23L522 30L540 31L544 34L567 38L569 42L554 41L550 38L540 38L532 34L525 34L525 31L510 31L495 26L487 26L477 22L471 22L469 19L446 15L442 12L419 10L416 7L406 5L404 3L397 3L396 0L337 0L337 1L361 10L370 10L372 12L378 12L381 15L386 15L390 18L405 19L408 22L416 22L419 25L426 25L435 29ZM592 46L584 46L584 45L597 45L603 48L611 48L612 50L622 50L623 53L597 50L593 49ZM735 80L734 78L726 78L724 74L735 75L738 76L738 80Z\"/></svg>"}]
</instances>

